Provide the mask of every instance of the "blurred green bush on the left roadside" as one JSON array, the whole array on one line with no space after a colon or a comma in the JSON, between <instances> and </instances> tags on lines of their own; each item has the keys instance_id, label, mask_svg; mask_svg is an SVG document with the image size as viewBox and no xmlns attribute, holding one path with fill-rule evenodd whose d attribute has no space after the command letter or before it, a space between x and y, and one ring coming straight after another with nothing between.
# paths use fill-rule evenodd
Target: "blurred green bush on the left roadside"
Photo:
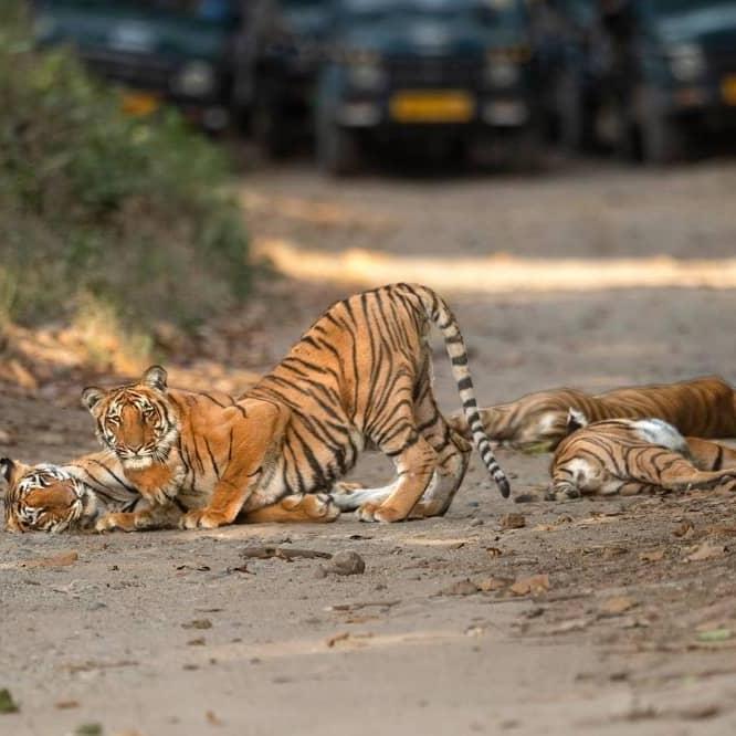
<instances>
[{"instance_id":1,"label":"blurred green bush on the left roadside","mask_svg":"<svg viewBox=\"0 0 736 736\"><path fill-rule=\"evenodd\" d=\"M0 3L0 317L72 316L92 296L137 326L241 299L248 241L221 151L174 109L120 96ZM86 301L85 301L86 299Z\"/></svg>"}]
</instances>

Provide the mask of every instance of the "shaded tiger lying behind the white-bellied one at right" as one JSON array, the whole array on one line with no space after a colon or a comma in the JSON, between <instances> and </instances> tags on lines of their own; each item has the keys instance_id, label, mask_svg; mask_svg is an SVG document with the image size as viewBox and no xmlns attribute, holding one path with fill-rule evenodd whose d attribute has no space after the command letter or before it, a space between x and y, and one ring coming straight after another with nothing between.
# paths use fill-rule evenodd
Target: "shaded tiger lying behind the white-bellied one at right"
<instances>
[{"instance_id":1,"label":"shaded tiger lying behind the white-bellied one at right","mask_svg":"<svg viewBox=\"0 0 736 736\"><path fill-rule=\"evenodd\" d=\"M568 388L538 391L481 409L481 419L491 440L518 449L551 451L567 434L569 409L582 412L590 422L655 418L685 435L736 437L736 396L726 381L715 376L634 386L596 396ZM461 434L467 433L463 417L452 417L449 422Z\"/></svg>"}]
</instances>

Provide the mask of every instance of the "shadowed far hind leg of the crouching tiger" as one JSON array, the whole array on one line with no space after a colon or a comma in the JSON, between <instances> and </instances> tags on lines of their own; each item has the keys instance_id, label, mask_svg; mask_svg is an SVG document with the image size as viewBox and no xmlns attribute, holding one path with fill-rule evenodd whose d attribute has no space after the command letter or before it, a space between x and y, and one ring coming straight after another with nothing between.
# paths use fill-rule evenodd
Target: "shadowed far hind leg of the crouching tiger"
<instances>
[{"instance_id":1,"label":"shadowed far hind leg of the crouching tiger","mask_svg":"<svg viewBox=\"0 0 736 736\"><path fill-rule=\"evenodd\" d=\"M419 432L437 453L437 469L424 495L412 509L411 518L442 516L465 477L472 445L451 429L440 412L429 377L420 383L414 416Z\"/></svg>"}]
</instances>

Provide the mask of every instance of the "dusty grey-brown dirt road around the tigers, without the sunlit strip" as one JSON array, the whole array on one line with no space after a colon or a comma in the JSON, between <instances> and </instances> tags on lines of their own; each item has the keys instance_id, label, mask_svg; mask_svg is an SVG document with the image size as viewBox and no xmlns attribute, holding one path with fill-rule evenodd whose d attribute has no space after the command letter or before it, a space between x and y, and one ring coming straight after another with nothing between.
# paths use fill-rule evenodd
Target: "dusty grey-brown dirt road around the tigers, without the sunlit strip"
<instances>
[{"instance_id":1,"label":"dusty grey-brown dirt road around the tigers, without the sunlit strip","mask_svg":"<svg viewBox=\"0 0 736 736\"><path fill-rule=\"evenodd\" d=\"M666 177L581 166L537 180L338 185L292 166L245 177L243 200L266 250L285 240L418 262L430 254L446 259L449 275L459 256L504 251L577 256L604 273L610 257L733 257L735 186L733 162ZM277 284L273 358L351 288ZM446 293L483 403L564 383L604 389L708 372L736 382L736 292L571 290ZM441 346L437 357L452 411ZM27 460L94 446L88 418L73 407L6 398L0 421L15 440L0 450ZM498 454L515 493L546 482L548 456ZM367 481L387 474L369 455L356 471ZM101 724L143 736L730 735L735 508L736 498L714 494L517 505L475 463L448 516L429 522L0 535L0 690L20 705L0 714L0 734ZM509 513L525 526L503 529ZM325 577L319 559L243 559L264 543L355 550L366 571ZM70 565L33 566L69 551L78 555Z\"/></svg>"}]
</instances>

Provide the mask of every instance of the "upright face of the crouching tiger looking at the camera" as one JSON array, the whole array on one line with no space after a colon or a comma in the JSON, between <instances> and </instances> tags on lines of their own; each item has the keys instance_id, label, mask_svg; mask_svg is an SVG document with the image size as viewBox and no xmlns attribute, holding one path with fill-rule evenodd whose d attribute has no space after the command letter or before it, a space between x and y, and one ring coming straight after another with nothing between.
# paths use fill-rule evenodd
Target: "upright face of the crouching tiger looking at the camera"
<instances>
[{"instance_id":1,"label":"upright face of the crouching tiger looking at the camera","mask_svg":"<svg viewBox=\"0 0 736 736\"><path fill-rule=\"evenodd\" d=\"M137 383L108 391L86 388L82 402L95 418L103 446L115 452L124 467L144 470L165 462L179 437L178 413L160 366L148 368Z\"/></svg>"}]
</instances>

